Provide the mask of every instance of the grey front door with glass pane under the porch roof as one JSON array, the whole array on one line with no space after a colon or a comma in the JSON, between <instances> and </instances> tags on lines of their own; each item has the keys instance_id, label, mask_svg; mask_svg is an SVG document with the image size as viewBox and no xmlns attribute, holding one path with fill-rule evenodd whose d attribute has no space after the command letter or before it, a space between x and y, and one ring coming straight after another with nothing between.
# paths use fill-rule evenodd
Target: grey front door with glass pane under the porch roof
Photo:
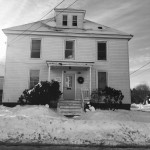
<instances>
[{"instance_id":1,"label":"grey front door with glass pane under the porch roof","mask_svg":"<svg viewBox=\"0 0 150 150\"><path fill-rule=\"evenodd\" d=\"M63 95L65 100L75 99L75 74L73 73L64 74Z\"/></svg>"}]
</instances>

